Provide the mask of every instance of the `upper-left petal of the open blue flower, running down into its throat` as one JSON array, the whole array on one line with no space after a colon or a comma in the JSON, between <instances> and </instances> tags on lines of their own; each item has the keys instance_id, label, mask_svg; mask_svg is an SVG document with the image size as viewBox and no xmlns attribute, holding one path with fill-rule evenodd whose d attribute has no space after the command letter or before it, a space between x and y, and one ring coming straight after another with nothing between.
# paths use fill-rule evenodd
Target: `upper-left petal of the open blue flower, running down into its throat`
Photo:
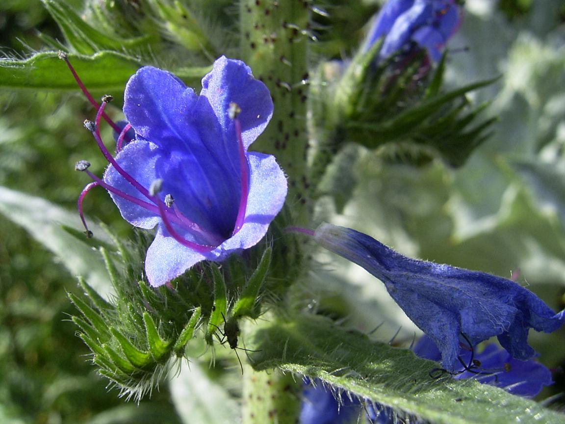
<instances>
[{"instance_id":1,"label":"upper-left petal of the open blue flower, running down into its throat","mask_svg":"<svg viewBox=\"0 0 565 424\"><path fill-rule=\"evenodd\" d=\"M208 75L222 72L215 65ZM222 131L210 105L197 99L171 73L144 67L128 81L124 113L139 138L159 147L157 174L165 184L176 185L170 193L181 211L209 231L227 237L241 193L237 138L235 133Z\"/></svg>"}]
</instances>

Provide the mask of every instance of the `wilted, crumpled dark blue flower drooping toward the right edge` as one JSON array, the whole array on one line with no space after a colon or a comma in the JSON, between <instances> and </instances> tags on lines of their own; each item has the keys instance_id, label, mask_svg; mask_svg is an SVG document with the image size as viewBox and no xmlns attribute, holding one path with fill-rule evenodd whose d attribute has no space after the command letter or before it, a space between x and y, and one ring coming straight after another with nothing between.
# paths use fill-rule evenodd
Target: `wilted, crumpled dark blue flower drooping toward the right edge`
<instances>
[{"instance_id":1,"label":"wilted, crumpled dark blue flower drooping toward the right edge","mask_svg":"<svg viewBox=\"0 0 565 424\"><path fill-rule=\"evenodd\" d=\"M552 332L565 322L519 284L485 272L418 261L349 228L321 225L314 239L380 279L390 296L441 352L442 366L459 365L460 336L471 347L497 336L510 355L528 360L528 330Z\"/></svg>"}]
</instances>

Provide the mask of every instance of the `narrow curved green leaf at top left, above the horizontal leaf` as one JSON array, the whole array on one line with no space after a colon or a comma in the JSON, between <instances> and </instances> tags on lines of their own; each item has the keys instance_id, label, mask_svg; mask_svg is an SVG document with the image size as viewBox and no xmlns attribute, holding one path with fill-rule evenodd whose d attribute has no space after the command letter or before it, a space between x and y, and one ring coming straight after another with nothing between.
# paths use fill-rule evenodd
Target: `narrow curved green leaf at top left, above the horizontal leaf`
<instances>
[{"instance_id":1,"label":"narrow curved green leaf at top left, above the horizontal leaf","mask_svg":"<svg viewBox=\"0 0 565 424\"><path fill-rule=\"evenodd\" d=\"M91 27L66 2L42 0L45 8L59 25L67 42L80 54L94 54L100 50L123 50L147 45L154 34L140 37L110 37Z\"/></svg>"}]
</instances>

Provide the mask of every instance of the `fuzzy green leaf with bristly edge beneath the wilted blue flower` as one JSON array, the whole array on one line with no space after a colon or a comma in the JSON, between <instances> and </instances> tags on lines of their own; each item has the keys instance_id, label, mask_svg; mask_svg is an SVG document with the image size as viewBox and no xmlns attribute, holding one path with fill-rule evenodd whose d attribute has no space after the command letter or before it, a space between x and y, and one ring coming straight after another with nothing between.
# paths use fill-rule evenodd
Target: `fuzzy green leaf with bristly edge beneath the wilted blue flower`
<instances>
[{"instance_id":1,"label":"fuzzy green leaf with bristly edge beneath the wilted blue flower","mask_svg":"<svg viewBox=\"0 0 565 424\"><path fill-rule=\"evenodd\" d=\"M436 362L408 349L371 341L326 318L302 315L292 321L262 321L247 332L256 370L321 379L368 403L390 406L433 423L562 423L565 415L476 380L431 378ZM250 339L253 337L253 343ZM284 348L283 348L284 347Z\"/></svg>"}]
</instances>

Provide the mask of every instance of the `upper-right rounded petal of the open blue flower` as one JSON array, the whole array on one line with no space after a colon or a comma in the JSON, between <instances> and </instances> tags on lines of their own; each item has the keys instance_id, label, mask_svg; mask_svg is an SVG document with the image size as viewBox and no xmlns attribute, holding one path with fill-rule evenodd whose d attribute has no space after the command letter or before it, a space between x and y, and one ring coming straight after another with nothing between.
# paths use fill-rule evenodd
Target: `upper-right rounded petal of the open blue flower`
<instances>
[{"instance_id":1,"label":"upper-right rounded petal of the open blue flower","mask_svg":"<svg viewBox=\"0 0 565 424\"><path fill-rule=\"evenodd\" d=\"M214 71L202 79L200 97L210 102L226 132L233 131L233 119L228 115L229 103L237 103L241 109L238 119L246 149L263 132L273 114L267 86L253 77L244 62L224 56L214 63Z\"/></svg>"}]
</instances>

